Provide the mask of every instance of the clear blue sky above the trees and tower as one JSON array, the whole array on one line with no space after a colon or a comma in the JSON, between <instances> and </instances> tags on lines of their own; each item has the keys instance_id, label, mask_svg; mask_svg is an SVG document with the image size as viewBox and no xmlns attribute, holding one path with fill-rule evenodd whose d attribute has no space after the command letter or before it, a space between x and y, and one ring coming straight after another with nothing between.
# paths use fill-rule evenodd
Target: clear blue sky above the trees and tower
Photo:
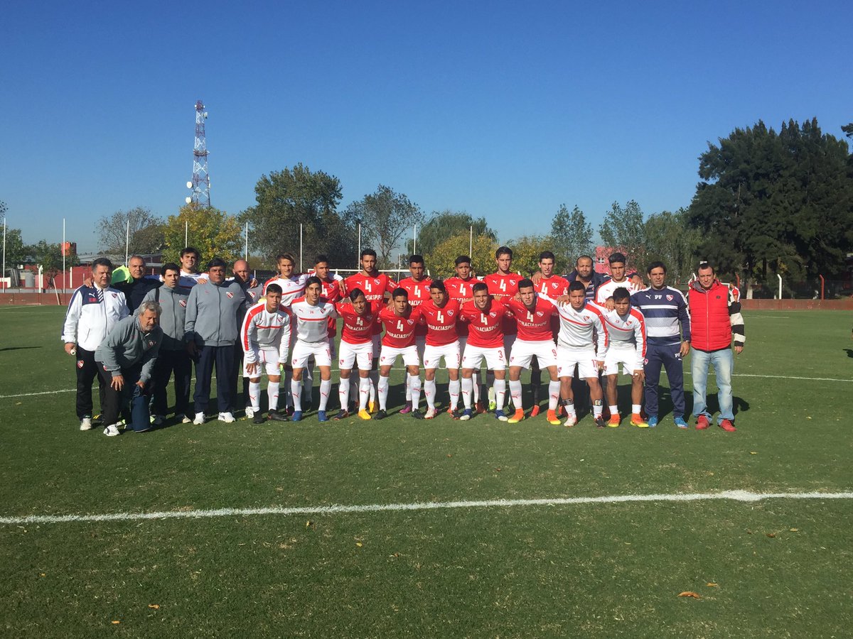
<instances>
[{"instance_id":1,"label":"clear blue sky above the trees and tower","mask_svg":"<svg viewBox=\"0 0 853 639\"><path fill-rule=\"evenodd\" d=\"M316 5L316 6L315 6ZM595 6L593 6L595 5ZM177 212L205 102L212 204L302 162L341 207L386 184L507 241L562 203L687 206L708 141L853 121L846 3L14 3L0 200L24 241ZM282 247L289 249L292 247Z\"/></svg>"}]
</instances>

